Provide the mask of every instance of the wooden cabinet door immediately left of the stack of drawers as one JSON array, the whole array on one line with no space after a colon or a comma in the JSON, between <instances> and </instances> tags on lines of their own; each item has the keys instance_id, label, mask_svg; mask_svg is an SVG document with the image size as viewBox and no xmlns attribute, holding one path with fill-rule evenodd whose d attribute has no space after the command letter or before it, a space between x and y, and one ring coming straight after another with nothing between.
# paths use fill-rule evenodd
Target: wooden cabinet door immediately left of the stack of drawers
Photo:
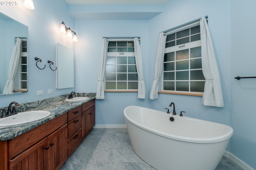
<instances>
[{"instance_id":1,"label":"wooden cabinet door immediately left of the stack of drawers","mask_svg":"<svg viewBox=\"0 0 256 170\"><path fill-rule=\"evenodd\" d=\"M68 125L48 136L48 170L60 168L68 158Z\"/></svg>"}]
</instances>

